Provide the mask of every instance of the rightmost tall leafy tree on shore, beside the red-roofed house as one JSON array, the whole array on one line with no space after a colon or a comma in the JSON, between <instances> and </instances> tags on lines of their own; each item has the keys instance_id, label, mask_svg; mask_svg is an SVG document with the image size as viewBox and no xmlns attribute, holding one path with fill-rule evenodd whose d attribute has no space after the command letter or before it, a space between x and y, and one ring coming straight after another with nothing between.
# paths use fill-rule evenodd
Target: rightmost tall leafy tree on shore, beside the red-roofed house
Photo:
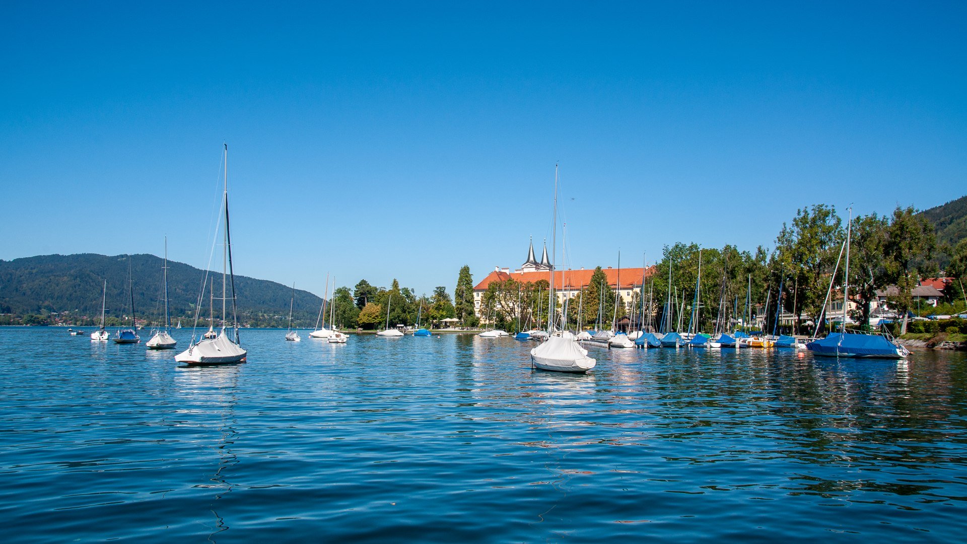
<instances>
[{"instance_id":1,"label":"rightmost tall leafy tree on shore, beside the red-roofed house","mask_svg":"<svg viewBox=\"0 0 967 544\"><path fill-rule=\"evenodd\" d=\"M925 217L917 214L913 206L894 210L888 237L884 244L886 278L897 288L891 304L903 313L900 334L906 334L907 317L913 306L913 289L919 281L918 272L925 272L928 259L937 247L933 226Z\"/></svg>"}]
</instances>

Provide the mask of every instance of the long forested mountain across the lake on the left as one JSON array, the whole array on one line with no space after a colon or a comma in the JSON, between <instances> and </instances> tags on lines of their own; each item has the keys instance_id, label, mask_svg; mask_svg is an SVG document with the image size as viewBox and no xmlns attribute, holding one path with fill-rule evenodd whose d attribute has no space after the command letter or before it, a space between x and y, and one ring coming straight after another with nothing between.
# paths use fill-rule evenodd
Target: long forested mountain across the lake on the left
<instances>
[{"instance_id":1,"label":"long forested mountain across the lake on the left","mask_svg":"<svg viewBox=\"0 0 967 544\"><path fill-rule=\"evenodd\" d=\"M69 311L80 316L101 315L101 292L107 281L107 315L131 314L128 270L134 287L134 309L138 317L163 315L161 257L132 255L107 257L96 254L47 255L0 260L0 314L42 314ZM168 261L168 296L172 319L190 324L201 290L204 270ZM221 274L215 280L216 297L221 293ZM288 317L292 288L276 282L235 277L239 317L250 324L279 324L273 317ZM229 293L231 287L229 286ZM229 294L230 296L230 294ZM293 319L302 326L315 324L322 299L296 290ZM208 316L209 291L202 300L202 316ZM215 300L216 315L221 302ZM231 300L228 300L231 308ZM230 312L230 310L229 310ZM76 315L76 314L75 314ZM281 325L284 326L284 319Z\"/></svg>"}]
</instances>

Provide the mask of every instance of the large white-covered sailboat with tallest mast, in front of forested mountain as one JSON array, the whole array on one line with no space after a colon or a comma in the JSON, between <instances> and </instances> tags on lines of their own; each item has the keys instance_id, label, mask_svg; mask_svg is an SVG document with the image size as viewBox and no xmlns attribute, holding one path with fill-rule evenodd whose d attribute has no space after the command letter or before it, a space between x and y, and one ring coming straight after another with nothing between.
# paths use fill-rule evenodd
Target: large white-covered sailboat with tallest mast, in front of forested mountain
<instances>
[{"instance_id":1,"label":"large white-covered sailboat with tallest mast, in front of forested mountain","mask_svg":"<svg viewBox=\"0 0 967 544\"><path fill-rule=\"evenodd\" d=\"M238 307L236 305L235 293L235 273L232 270L232 237L228 223L228 144L225 144L225 180L222 192L222 207L225 211L225 237L222 250L221 265L221 331L218 337L202 339L194 342L194 335L191 336L189 348L175 356L175 361L188 365L219 365L227 363L239 363L246 360L249 352L242 348L239 342L239 323ZM227 265L227 270L225 269ZM226 281L231 279L232 284L232 324L235 338L230 338L225 334L225 300L228 298ZM195 324L197 325L198 315L195 313Z\"/></svg>"}]
</instances>

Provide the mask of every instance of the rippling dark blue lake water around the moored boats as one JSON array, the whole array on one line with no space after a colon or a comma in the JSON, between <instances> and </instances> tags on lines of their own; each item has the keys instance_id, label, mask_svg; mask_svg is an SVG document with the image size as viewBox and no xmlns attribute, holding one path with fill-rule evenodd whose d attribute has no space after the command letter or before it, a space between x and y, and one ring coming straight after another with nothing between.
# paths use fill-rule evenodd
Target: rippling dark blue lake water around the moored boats
<instances>
[{"instance_id":1,"label":"rippling dark blue lake water around the moored boats","mask_svg":"<svg viewBox=\"0 0 967 544\"><path fill-rule=\"evenodd\" d=\"M0 328L0 538L963 538L963 353L591 348L578 376L512 339L284 334L186 368Z\"/></svg>"}]
</instances>

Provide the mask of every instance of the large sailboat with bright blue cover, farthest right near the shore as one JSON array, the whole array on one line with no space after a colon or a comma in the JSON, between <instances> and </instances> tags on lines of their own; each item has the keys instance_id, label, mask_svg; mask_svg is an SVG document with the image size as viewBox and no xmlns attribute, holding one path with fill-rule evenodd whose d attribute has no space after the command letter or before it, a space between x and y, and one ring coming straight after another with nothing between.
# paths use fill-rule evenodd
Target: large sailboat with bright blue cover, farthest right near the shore
<instances>
[{"instance_id":1,"label":"large sailboat with bright blue cover, farthest right near the shore","mask_svg":"<svg viewBox=\"0 0 967 544\"><path fill-rule=\"evenodd\" d=\"M812 342L806 344L806 349L812 351L813 355L824 357L851 357L868 359L904 359L910 351L899 344L896 344L891 337L875 333L853 333L846 332L846 311L849 308L849 244L851 228L853 227L853 208L849 209L849 221L846 224L846 274L843 276L843 318L839 326L839 332L832 332L822 340L816 340L819 333L819 325L823 321L823 314L826 312L826 303L829 301L830 293L833 291L833 280L836 272L830 278L830 289L826 293L826 300L823 301L823 311L816 320L816 329L812 335ZM839 250L842 257L842 250ZM836 259L836 268L839 267L839 259ZM887 333L889 335L889 333Z\"/></svg>"}]
</instances>

